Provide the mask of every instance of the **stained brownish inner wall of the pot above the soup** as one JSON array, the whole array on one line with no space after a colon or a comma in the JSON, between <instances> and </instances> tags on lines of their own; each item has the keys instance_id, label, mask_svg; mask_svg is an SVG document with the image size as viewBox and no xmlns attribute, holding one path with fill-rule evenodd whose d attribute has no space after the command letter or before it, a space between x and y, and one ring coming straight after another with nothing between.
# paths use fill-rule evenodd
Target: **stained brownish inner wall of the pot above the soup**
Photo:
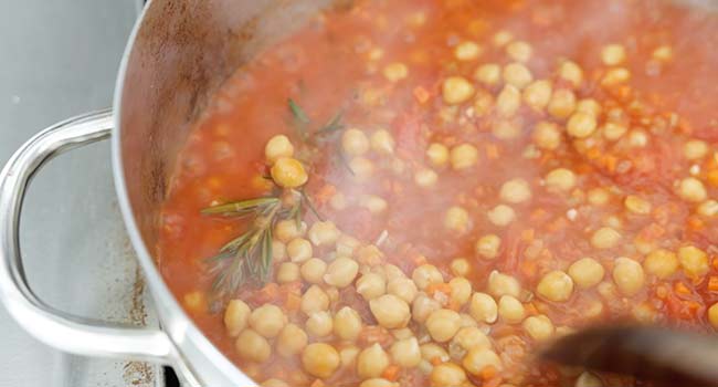
<instances>
[{"instance_id":1,"label":"stained brownish inner wall of the pot above the soup","mask_svg":"<svg viewBox=\"0 0 718 387\"><path fill-rule=\"evenodd\" d=\"M332 3L338 1L155 0L148 6L124 74L119 133L130 205L154 255L157 215L177 153L212 92L258 51Z\"/></svg>"}]
</instances>

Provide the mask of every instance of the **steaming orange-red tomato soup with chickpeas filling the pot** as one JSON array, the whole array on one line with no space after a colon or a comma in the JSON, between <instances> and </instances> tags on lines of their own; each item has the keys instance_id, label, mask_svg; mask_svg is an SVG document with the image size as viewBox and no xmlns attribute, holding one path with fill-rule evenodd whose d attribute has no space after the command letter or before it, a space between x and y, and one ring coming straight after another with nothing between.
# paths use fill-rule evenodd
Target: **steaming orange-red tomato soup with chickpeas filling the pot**
<instances>
[{"instance_id":1,"label":"steaming orange-red tomato soup with chickpeas filling the pot","mask_svg":"<svg viewBox=\"0 0 718 387\"><path fill-rule=\"evenodd\" d=\"M716 46L716 14L647 0L320 14L197 123L159 269L267 387L610 385L528 357L609 320L718 326ZM266 278L218 296L208 259L256 222L201 211L299 190L265 147L325 222L271 223Z\"/></svg>"}]
</instances>

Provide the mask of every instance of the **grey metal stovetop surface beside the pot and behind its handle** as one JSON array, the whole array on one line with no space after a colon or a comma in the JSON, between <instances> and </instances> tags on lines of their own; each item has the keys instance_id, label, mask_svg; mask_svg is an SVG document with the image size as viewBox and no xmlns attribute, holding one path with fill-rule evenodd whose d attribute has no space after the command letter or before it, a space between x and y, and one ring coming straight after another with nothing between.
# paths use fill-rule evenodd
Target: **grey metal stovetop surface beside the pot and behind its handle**
<instances>
[{"instance_id":1,"label":"grey metal stovetop surface beside the pot and behind its handle","mask_svg":"<svg viewBox=\"0 0 718 387\"><path fill-rule=\"evenodd\" d=\"M136 15L136 0L3 2L0 165L40 129L110 106ZM80 316L157 324L117 209L107 142L51 161L24 208L25 271L42 300ZM0 307L0 386L150 387L161 384L159 374L152 365L53 351Z\"/></svg>"}]
</instances>

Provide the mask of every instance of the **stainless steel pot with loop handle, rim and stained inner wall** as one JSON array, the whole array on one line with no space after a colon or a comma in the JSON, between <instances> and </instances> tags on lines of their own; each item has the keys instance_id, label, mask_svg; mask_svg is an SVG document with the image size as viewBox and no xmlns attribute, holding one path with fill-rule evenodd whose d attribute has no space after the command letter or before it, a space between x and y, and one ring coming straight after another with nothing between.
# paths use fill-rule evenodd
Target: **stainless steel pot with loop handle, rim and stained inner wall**
<instances>
[{"instance_id":1,"label":"stainless steel pot with loop handle, rim and stained inner wall","mask_svg":"<svg viewBox=\"0 0 718 387\"><path fill-rule=\"evenodd\" d=\"M212 92L257 51L331 3L155 0L147 6L120 64L113 111L44 129L0 172L0 301L22 327L65 352L172 365L193 386L256 385L204 337L162 281L152 259L158 209L176 155ZM123 217L162 330L116 326L56 311L33 294L23 272L18 226L30 179L53 156L108 137Z\"/></svg>"}]
</instances>

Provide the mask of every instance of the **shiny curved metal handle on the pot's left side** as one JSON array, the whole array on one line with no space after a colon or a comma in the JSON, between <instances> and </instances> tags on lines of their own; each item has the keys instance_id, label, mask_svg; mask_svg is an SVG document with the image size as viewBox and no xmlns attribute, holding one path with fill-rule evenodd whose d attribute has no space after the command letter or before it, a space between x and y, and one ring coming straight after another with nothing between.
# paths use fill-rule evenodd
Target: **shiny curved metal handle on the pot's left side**
<instances>
[{"instance_id":1,"label":"shiny curved metal handle on the pot's left side","mask_svg":"<svg viewBox=\"0 0 718 387\"><path fill-rule=\"evenodd\" d=\"M113 325L57 311L33 294L22 268L18 230L30 179L53 156L108 138L113 126L109 109L59 123L28 140L0 172L0 301L20 326L57 349L170 364L177 358L176 348L165 332Z\"/></svg>"}]
</instances>

